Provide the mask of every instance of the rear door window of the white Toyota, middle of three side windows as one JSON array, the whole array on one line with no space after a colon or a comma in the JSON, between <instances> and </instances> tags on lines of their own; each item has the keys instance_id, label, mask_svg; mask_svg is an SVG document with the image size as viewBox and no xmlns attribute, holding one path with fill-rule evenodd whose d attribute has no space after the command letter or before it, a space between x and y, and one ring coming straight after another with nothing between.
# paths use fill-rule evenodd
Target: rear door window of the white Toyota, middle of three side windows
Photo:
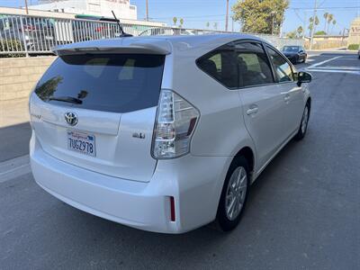
<instances>
[{"instance_id":1,"label":"rear door window of the white Toyota, middle of three side windows","mask_svg":"<svg viewBox=\"0 0 360 270\"><path fill-rule=\"evenodd\" d=\"M263 46L257 42L235 44L239 86L274 83L273 74Z\"/></svg>"}]
</instances>

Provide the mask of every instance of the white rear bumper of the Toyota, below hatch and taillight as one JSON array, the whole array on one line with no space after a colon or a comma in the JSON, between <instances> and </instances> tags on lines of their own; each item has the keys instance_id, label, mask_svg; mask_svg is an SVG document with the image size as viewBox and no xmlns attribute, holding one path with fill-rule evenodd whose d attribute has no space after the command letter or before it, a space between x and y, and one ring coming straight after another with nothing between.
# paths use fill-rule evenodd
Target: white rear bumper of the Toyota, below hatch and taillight
<instances>
[{"instance_id":1,"label":"white rear bumper of the Toyota, below hatch and taillight","mask_svg":"<svg viewBox=\"0 0 360 270\"><path fill-rule=\"evenodd\" d=\"M151 181L141 183L98 174L49 156L31 137L36 182L59 200L133 228L183 233L216 217L229 157L185 157L158 161ZM171 221L170 196L175 198Z\"/></svg>"}]
</instances>

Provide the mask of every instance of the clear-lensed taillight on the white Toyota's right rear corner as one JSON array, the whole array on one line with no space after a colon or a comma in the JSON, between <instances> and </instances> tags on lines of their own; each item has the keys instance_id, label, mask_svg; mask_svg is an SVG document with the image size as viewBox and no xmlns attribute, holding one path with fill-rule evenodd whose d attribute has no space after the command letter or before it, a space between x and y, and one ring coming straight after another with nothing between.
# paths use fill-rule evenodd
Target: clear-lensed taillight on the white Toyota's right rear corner
<instances>
[{"instance_id":1,"label":"clear-lensed taillight on the white Toyota's right rear corner","mask_svg":"<svg viewBox=\"0 0 360 270\"><path fill-rule=\"evenodd\" d=\"M161 90L157 122L152 142L155 158L183 156L190 151L190 141L200 113L171 90Z\"/></svg>"}]
</instances>

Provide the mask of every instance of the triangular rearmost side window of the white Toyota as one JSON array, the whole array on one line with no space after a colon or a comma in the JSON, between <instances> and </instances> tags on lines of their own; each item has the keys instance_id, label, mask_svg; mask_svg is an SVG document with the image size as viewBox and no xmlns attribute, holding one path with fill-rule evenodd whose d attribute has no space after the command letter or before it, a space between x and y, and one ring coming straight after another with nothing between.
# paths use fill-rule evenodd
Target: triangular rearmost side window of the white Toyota
<instances>
[{"instance_id":1,"label":"triangular rearmost side window of the white Toyota","mask_svg":"<svg viewBox=\"0 0 360 270\"><path fill-rule=\"evenodd\" d=\"M196 61L203 72L228 88L238 88L238 67L234 51L225 45Z\"/></svg>"}]
</instances>

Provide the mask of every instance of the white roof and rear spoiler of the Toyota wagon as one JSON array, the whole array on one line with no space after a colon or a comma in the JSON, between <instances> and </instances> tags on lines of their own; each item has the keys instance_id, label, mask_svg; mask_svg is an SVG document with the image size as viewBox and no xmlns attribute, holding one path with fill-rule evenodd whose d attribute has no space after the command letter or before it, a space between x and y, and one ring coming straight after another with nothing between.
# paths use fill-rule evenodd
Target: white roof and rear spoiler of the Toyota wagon
<instances>
[{"instance_id":1,"label":"white roof and rear spoiler of the Toyota wagon","mask_svg":"<svg viewBox=\"0 0 360 270\"><path fill-rule=\"evenodd\" d=\"M89 40L58 46L53 49L58 55L85 50L119 50L121 52L169 54L176 50L200 49L210 51L234 40L259 40L256 36L241 33L178 35L178 36L140 36L107 40Z\"/></svg>"}]
</instances>

